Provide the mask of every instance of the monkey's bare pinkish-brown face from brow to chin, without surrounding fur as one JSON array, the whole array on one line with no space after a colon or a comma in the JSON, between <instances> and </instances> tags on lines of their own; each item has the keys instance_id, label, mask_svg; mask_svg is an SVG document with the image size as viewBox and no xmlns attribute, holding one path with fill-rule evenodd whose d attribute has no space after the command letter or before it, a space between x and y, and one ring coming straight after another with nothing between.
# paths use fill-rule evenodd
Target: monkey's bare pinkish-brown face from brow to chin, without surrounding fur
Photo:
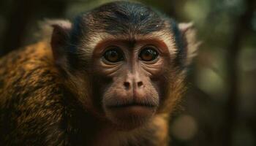
<instances>
[{"instance_id":1,"label":"monkey's bare pinkish-brown face from brow to chin, without surrounding fur","mask_svg":"<svg viewBox=\"0 0 256 146\"><path fill-rule=\"evenodd\" d=\"M135 127L157 112L167 85L169 52L164 43L108 40L97 45L93 58L94 95L108 120Z\"/></svg>"}]
</instances>

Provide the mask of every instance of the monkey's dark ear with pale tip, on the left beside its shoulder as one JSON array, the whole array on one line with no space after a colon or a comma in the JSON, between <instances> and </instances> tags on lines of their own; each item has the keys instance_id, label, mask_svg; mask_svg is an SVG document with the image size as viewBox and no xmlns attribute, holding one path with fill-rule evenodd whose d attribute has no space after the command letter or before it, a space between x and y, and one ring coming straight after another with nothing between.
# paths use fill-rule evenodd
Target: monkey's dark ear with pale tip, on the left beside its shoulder
<instances>
[{"instance_id":1,"label":"monkey's dark ear with pale tip, on the left beside its shoulder","mask_svg":"<svg viewBox=\"0 0 256 146\"><path fill-rule=\"evenodd\" d=\"M69 32L72 28L72 23L67 20L56 20L50 23L53 27L50 45L53 51L53 58L57 65L65 64L65 47L69 39Z\"/></svg>"}]
</instances>

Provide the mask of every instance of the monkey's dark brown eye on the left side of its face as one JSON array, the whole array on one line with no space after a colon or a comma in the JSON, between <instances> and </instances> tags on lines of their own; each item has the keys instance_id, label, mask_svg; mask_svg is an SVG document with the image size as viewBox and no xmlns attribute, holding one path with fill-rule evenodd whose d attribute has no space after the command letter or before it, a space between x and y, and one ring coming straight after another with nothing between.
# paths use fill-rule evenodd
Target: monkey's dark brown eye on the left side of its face
<instances>
[{"instance_id":1,"label":"monkey's dark brown eye on the left side of its face","mask_svg":"<svg viewBox=\"0 0 256 146\"><path fill-rule=\"evenodd\" d=\"M123 53L121 52L121 50L119 50L118 48L113 48L113 49L109 49L104 53L104 58L105 60L111 62L111 63L116 63L118 61L122 61L124 60L124 56Z\"/></svg>"}]
</instances>

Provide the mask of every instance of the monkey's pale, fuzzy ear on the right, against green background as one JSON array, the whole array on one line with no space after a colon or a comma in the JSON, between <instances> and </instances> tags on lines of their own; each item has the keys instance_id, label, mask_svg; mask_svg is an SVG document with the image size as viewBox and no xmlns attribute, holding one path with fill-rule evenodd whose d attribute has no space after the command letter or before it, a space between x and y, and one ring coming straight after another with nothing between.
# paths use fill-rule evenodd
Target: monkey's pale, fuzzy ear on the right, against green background
<instances>
[{"instance_id":1,"label":"monkey's pale, fuzzy ear on the right, against green background","mask_svg":"<svg viewBox=\"0 0 256 146\"><path fill-rule=\"evenodd\" d=\"M196 39L196 30L193 23L179 23L178 28L181 31L181 37L184 39L185 48L187 50L187 58L185 65L189 65L192 62L192 59L197 55L197 47L201 42L197 42Z\"/></svg>"}]
</instances>

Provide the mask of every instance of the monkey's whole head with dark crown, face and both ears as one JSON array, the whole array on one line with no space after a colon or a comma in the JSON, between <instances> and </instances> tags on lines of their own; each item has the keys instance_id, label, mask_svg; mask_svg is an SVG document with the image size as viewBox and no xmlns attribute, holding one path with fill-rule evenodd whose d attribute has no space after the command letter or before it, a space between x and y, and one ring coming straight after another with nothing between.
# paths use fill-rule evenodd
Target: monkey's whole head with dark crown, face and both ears
<instances>
[{"instance_id":1,"label":"monkey's whole head with dark crown, face and both ears","mask_svg":"<svg viewBox=\"0 0 256 146\"><path fill-rule=\"evenodd\" d=\"M56 66L85 110L118 128L173 110L197 47L191 24L118 1L52 26Z\"/></svg>"}]
</instances>

